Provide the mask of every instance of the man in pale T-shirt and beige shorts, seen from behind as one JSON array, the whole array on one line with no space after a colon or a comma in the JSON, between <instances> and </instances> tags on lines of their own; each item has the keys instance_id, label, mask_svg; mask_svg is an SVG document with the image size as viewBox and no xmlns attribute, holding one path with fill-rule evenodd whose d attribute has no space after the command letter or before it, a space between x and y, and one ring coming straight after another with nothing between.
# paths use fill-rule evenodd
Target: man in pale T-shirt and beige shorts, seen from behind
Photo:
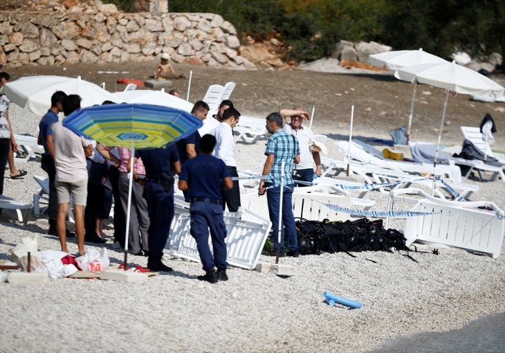
<instances>
[{"instance_id":1,"label":"man in pale T-shirt and beige shorts, seen from behind","mask_svg":"<svg viewBox=\"0 0 505 353\"><path fill-rule=\"evenodd\" d=\"M81 98L71 94L63 105L65 116L80 108ZM75 218L75 233L79 255L84 255L84 206L88 184L86 156L93 153L91 141L77 136L59 121L53 124L53 145L55 152L56 192L58 198L58 216L56 228L62 251L68 253L66 247L66 215L70 195L73 199L73 215Z\"/></svg>"}]
</instances>

